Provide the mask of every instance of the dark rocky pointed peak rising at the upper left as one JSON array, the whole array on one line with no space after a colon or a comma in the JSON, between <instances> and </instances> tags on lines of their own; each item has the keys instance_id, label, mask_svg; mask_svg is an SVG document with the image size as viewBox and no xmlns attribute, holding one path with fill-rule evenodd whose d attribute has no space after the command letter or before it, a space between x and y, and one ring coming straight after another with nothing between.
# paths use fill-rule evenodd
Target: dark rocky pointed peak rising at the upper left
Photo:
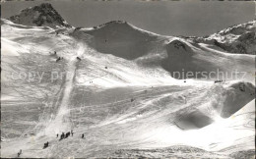
<instances>
[{"instance_id":1,"label":"dark rocky pointed peak rising at the upper left","mask_svg":"<svg viewBox=\"0 0 256 159\"><path fill-rule=\"evenodd\" d=\"M22 10L9 18L15 24L33 27L71 27L49 3Z\"/></svg>"}]
</instances>

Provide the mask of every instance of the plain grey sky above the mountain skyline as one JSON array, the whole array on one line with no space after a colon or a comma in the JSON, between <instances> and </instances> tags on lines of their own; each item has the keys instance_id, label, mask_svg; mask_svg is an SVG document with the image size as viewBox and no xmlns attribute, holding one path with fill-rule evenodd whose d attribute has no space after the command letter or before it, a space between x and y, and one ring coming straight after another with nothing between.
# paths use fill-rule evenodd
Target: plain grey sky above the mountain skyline
<instances>
[{"instance_id":1,"label":"plain grey sky above the mountain skyline","mask_svg":"<svg viewBox=\"0 0 256 159\"><path fill-rule=\"evenodd\" d=\"M241 1L7 1L1 3L1 18L22 9L51 3L74 27L94 27L122 20L162 35L203 36L225 27L255 19L255 2Z\"/></svg>"}]
</instances>

